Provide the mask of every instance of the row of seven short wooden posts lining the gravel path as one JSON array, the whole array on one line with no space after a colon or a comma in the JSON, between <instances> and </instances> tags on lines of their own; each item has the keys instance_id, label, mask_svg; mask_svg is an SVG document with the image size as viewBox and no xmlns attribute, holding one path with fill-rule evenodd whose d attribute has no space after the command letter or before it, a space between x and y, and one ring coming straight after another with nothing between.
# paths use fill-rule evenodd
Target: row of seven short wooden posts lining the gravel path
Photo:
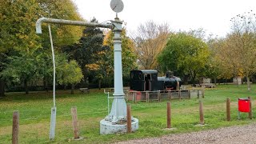
<instances>
[{"instance_id":1,"label":"row of seven short wooden posts lining the gravel path","mask_svg":"<svg viewBox=\"0 0 256 144\"><path fill-rule=\"evenodd\" d=\"M248 97L250 100L251 98ZM131 106L130 104L127 104L127 133L131 133ZM171 128L171 106L170 102L167 102L167 128ZM71 114L72 114L72 123L73 123L73 130L74 130L74 139L80 138L79 136L79 130L78 130L78 116L77 116L77 108L72 107L71 108ZM200 124L204 125L204 116L203 116L203 105L202 101L199 101L199 115L200 115ZM251 101L250 101L250 112L249 112L249 118L253 118L252 109L251 109ZM226 120L230 121L230 98L226 98ZM19 131L19 113L18 111L14 111L13 114L13 133L12 133L12 143L18 144L18 131Z\"/></svg>"}]
</instances>

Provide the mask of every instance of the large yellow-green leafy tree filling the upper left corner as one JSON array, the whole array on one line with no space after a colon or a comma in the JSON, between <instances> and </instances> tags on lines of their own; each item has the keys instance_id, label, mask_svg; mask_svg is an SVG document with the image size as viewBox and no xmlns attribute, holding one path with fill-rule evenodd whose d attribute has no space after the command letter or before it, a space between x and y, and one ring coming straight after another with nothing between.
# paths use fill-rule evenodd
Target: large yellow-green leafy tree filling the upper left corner
<instances>
[{"instance_id":1,"label":"large yellow-green leafy tree filling the upper left corner","mask_svg":"<svg viewBox=\"0 0 256 144\"><path fill-rule=\"evenodd\" d=\"M22 66L24 65L16 65L18 67L11 66L10 64L17 64L18 60L21 62L27 62L26 59L18 58L22 56L30 57L31 54L34 55L38 52L38 49L42 46L44 49L40 50L39 55L45 54L44 57L35 57L34 58L50 58L50 47L49 36L48 33L43 33L41 37L38 37L35 34L35 22L38 18L45 16L49 18L65 18L65 19L81 19L78 12L76 11L76 7L71 0L63 0L63 1L49 1L49 0L17 0L17 1L0 1L0 52L1 56L4 56L5 59L8 59L8 62L5 62L5 65L0 65L0 73L2 70L16 68L16 72L20 71L18 74L25 74L27 77L33 76L34 71L26 71L21 72ZM46 25L43 25L43 30L47 30ZM74 43L76 38L78 38L77 31L80 31L81 28L74 27L71 30L70 26L52 26L52 31L54 35L54 45L56 48L55 54L58 54L58 48L65 44ZM47 48L47 49L46 49ZM46 56L48 54L48 56ZM24 57L26 58L26 57ZM0 58L4 59L4 58ZM14 62L11 62L14 61ZM33 66L36 67L36 71L43 71L39 69L49 68L51 61L48 59L37 59L36 61L40 62L50 62L47 64L47 67ZM1 62L2 63L2 62ZM8 64L10 63L10 64ZM31 62L30 64L38 64ZM29 64L29 65L30 65ZM6 66L10 66L9 68ZM51 65L52 66L52 65ZM49 70L44 70L49 71ZM30 73L30 74L29 74ZM32 74L32 75L31 75ZM49 73L38 73L38 74L46 74L44 75L44 79L47 77L52 77L52 74ZM32 77L33 78L33 77ZM2 80L0 78L0 94L2 95L4 92L2 86ZM23 78L24 80L30 78ZM0 95L0 96L1 96Z\"/></svg>"}]
</instances>

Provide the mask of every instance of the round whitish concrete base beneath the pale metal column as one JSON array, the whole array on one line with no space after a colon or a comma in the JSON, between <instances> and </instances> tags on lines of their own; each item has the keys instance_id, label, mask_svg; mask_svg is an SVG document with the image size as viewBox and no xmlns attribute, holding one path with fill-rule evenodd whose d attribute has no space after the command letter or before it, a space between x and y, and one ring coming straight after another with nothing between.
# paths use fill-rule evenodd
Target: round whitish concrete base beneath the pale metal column
<instances>
[{"instance_id":1,"label":"round whitish concrete base beneath the pale metal column","mask_svg":"<svg viewBox=\"0 0 256 144\"><path fill-rule=\"evenodd\" d=\"M131 122L131 130L138 130L138 119L133 118ZM126 123L123 125L113 125L112 122L102 119L100 122L100 134L116 134L116 133L126 133L127 126Z\"/></svg>"}]
</instances>

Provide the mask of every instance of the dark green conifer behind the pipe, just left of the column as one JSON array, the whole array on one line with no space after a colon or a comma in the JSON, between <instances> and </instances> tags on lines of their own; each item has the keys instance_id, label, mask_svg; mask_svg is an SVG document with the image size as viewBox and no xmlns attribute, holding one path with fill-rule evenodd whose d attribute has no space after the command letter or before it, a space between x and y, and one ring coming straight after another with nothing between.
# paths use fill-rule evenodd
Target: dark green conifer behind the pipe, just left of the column
<instances>
[{"instance_id":1,"label":"dark green conifer behind the pipe, just left of the column","mask_svg":"<svg viewBox=\"0 0 256 144\"><path fill-rule=\"evenodd\" d=\"M90 22L98 22L93 18ZM75 59L82 68L84 78L95 78L100 82L100 77L96 77L96 73L90 71L90 66L95 65L102 59L101 53L105 53L106 48L102 46L104 35L101 29L95 27L87 27L82 31L82 38L79 42L72 46L65 46L62 51L70 54L70 59ZM99 78L99 79L98 79Z\"/></svg>"}]
</instances>

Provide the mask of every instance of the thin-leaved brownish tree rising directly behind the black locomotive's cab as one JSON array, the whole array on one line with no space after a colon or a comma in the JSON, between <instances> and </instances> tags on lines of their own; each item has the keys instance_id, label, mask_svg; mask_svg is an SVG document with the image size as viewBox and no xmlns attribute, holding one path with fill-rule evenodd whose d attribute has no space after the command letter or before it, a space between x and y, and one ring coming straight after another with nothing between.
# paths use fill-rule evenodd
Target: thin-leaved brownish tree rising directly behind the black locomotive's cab
<instances>
[{"instance_id":1,"label":"thin-leaved brownish tree rising directly behind the black locomotive's cab","mask_svg":"<svg viewBox=\"0 0 256 144\"><path fill-rule=\"evenodd\" d=\"M158 69L157 56L166 46L170 34L168 24L156 24L153 21L138 26L133 35L135 53L142 69Z\"/></svg>"}]
</instances>

